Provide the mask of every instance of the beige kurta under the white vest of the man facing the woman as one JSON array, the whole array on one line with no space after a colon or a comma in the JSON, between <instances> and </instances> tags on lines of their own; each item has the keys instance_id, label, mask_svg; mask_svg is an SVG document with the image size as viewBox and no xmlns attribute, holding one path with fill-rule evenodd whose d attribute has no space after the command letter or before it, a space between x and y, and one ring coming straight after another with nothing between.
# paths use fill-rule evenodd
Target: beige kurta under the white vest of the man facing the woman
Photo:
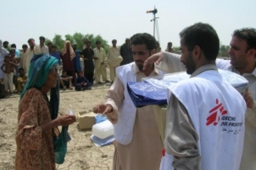
<instances>
[{"instance_id":1,"label":"beige kurta under the white vest of the man facing the woman","mask_svg":"<svg viewBox=\"0 0 256 170\"><path fill-rule=\"evenodd\" d=\"M146 77L134 67L137 81ZM150 76L157 73L153 71ZM119 108L124 99L124 86L118 77L115 78L113 85L107 92L106 104L113 106L113 112L108 118L112 123L117 120L117 108ZM163 144L160 138L159 130L153 113L153 106L144 106L137 108L133 139L128 145L115 143L115 154L113 158L114 170L158 170L161 162L161 150Z\"/></svg>"}]
</instances>

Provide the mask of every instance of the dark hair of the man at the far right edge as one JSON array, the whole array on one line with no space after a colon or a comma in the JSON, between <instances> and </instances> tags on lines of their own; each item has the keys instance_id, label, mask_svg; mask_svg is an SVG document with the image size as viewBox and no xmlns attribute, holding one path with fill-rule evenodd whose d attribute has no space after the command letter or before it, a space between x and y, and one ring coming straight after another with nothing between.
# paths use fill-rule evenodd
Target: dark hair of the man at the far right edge
<instances>
[{"instance_id":1,"label":"dark hair of the man at the far right edge","mask_svg":"<svg viewBox=\"0 0 256 170\"><path fill-rule=\"evenodd\" d=\"M254 28L242 28L235 30L233 37L245 40L247 42L247 51L249 49L256 49L256 29Z\"/></svg>"}]
</instances>

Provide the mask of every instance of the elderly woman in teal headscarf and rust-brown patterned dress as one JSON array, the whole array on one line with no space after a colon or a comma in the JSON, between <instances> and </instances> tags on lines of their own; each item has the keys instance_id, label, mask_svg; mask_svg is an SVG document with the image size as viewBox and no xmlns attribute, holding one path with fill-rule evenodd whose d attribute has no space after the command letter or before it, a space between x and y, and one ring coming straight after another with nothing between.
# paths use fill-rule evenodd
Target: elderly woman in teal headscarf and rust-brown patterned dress
<instances>
[{"instance_id":1,"label":"elderly woman in teal headscarf and rust-brown patterned dress","mask_svg":"<svg viewBox=\"0 0 256 170\"><path fill-rule=\"evenodd\" d=\"M76 121L74 115L58 117L57 63L55 57L48 55L34 55L31 59L28 82L19 104L16 170L55 170L54 132L58 126Z\"/></svg>"}]
</instances>

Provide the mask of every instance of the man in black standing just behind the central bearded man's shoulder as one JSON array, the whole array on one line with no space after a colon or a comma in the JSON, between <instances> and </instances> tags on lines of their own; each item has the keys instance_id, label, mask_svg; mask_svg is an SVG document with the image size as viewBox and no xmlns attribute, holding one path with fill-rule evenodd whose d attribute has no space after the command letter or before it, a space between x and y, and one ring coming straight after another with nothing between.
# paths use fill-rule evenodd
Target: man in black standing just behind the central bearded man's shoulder
<instances>
[{"instance_id":1,"label":"man in black standing just behind the central bearded man's shoulder","mask_svg":"<svg viewBox=\"0 0 256 170\"><path fill-rule=\"evenodd\" d=\"M132 48L130 46L130 39L126 38L125 43L121 45L120 47L120 55L123 58L123 61L120 63L120 65L129 64L133 62L133 53Z\"/></svg>"}]
</instances>

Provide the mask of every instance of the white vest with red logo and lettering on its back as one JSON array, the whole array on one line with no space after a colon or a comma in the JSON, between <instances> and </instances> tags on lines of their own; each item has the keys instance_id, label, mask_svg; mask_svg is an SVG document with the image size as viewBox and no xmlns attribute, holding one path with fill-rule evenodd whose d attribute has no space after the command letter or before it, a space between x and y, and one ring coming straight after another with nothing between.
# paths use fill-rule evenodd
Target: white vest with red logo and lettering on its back
<instances>
[{"instance_id":1,"label":"white vest with red logo and lettering on its back","mask_svg":"<svg viewBox=\"0 0 256 170\"><path fill-rule=\"evenodd\" d=\"M202 170L238 170L245 130L243 97L216 70L178 82L168 89L185 106L199 136ZM172 164L172 156L163 165ZM167 157L165 159L167 159ZM164 160L164 159L162 159Z\"/></svg>"}]
</instances>

